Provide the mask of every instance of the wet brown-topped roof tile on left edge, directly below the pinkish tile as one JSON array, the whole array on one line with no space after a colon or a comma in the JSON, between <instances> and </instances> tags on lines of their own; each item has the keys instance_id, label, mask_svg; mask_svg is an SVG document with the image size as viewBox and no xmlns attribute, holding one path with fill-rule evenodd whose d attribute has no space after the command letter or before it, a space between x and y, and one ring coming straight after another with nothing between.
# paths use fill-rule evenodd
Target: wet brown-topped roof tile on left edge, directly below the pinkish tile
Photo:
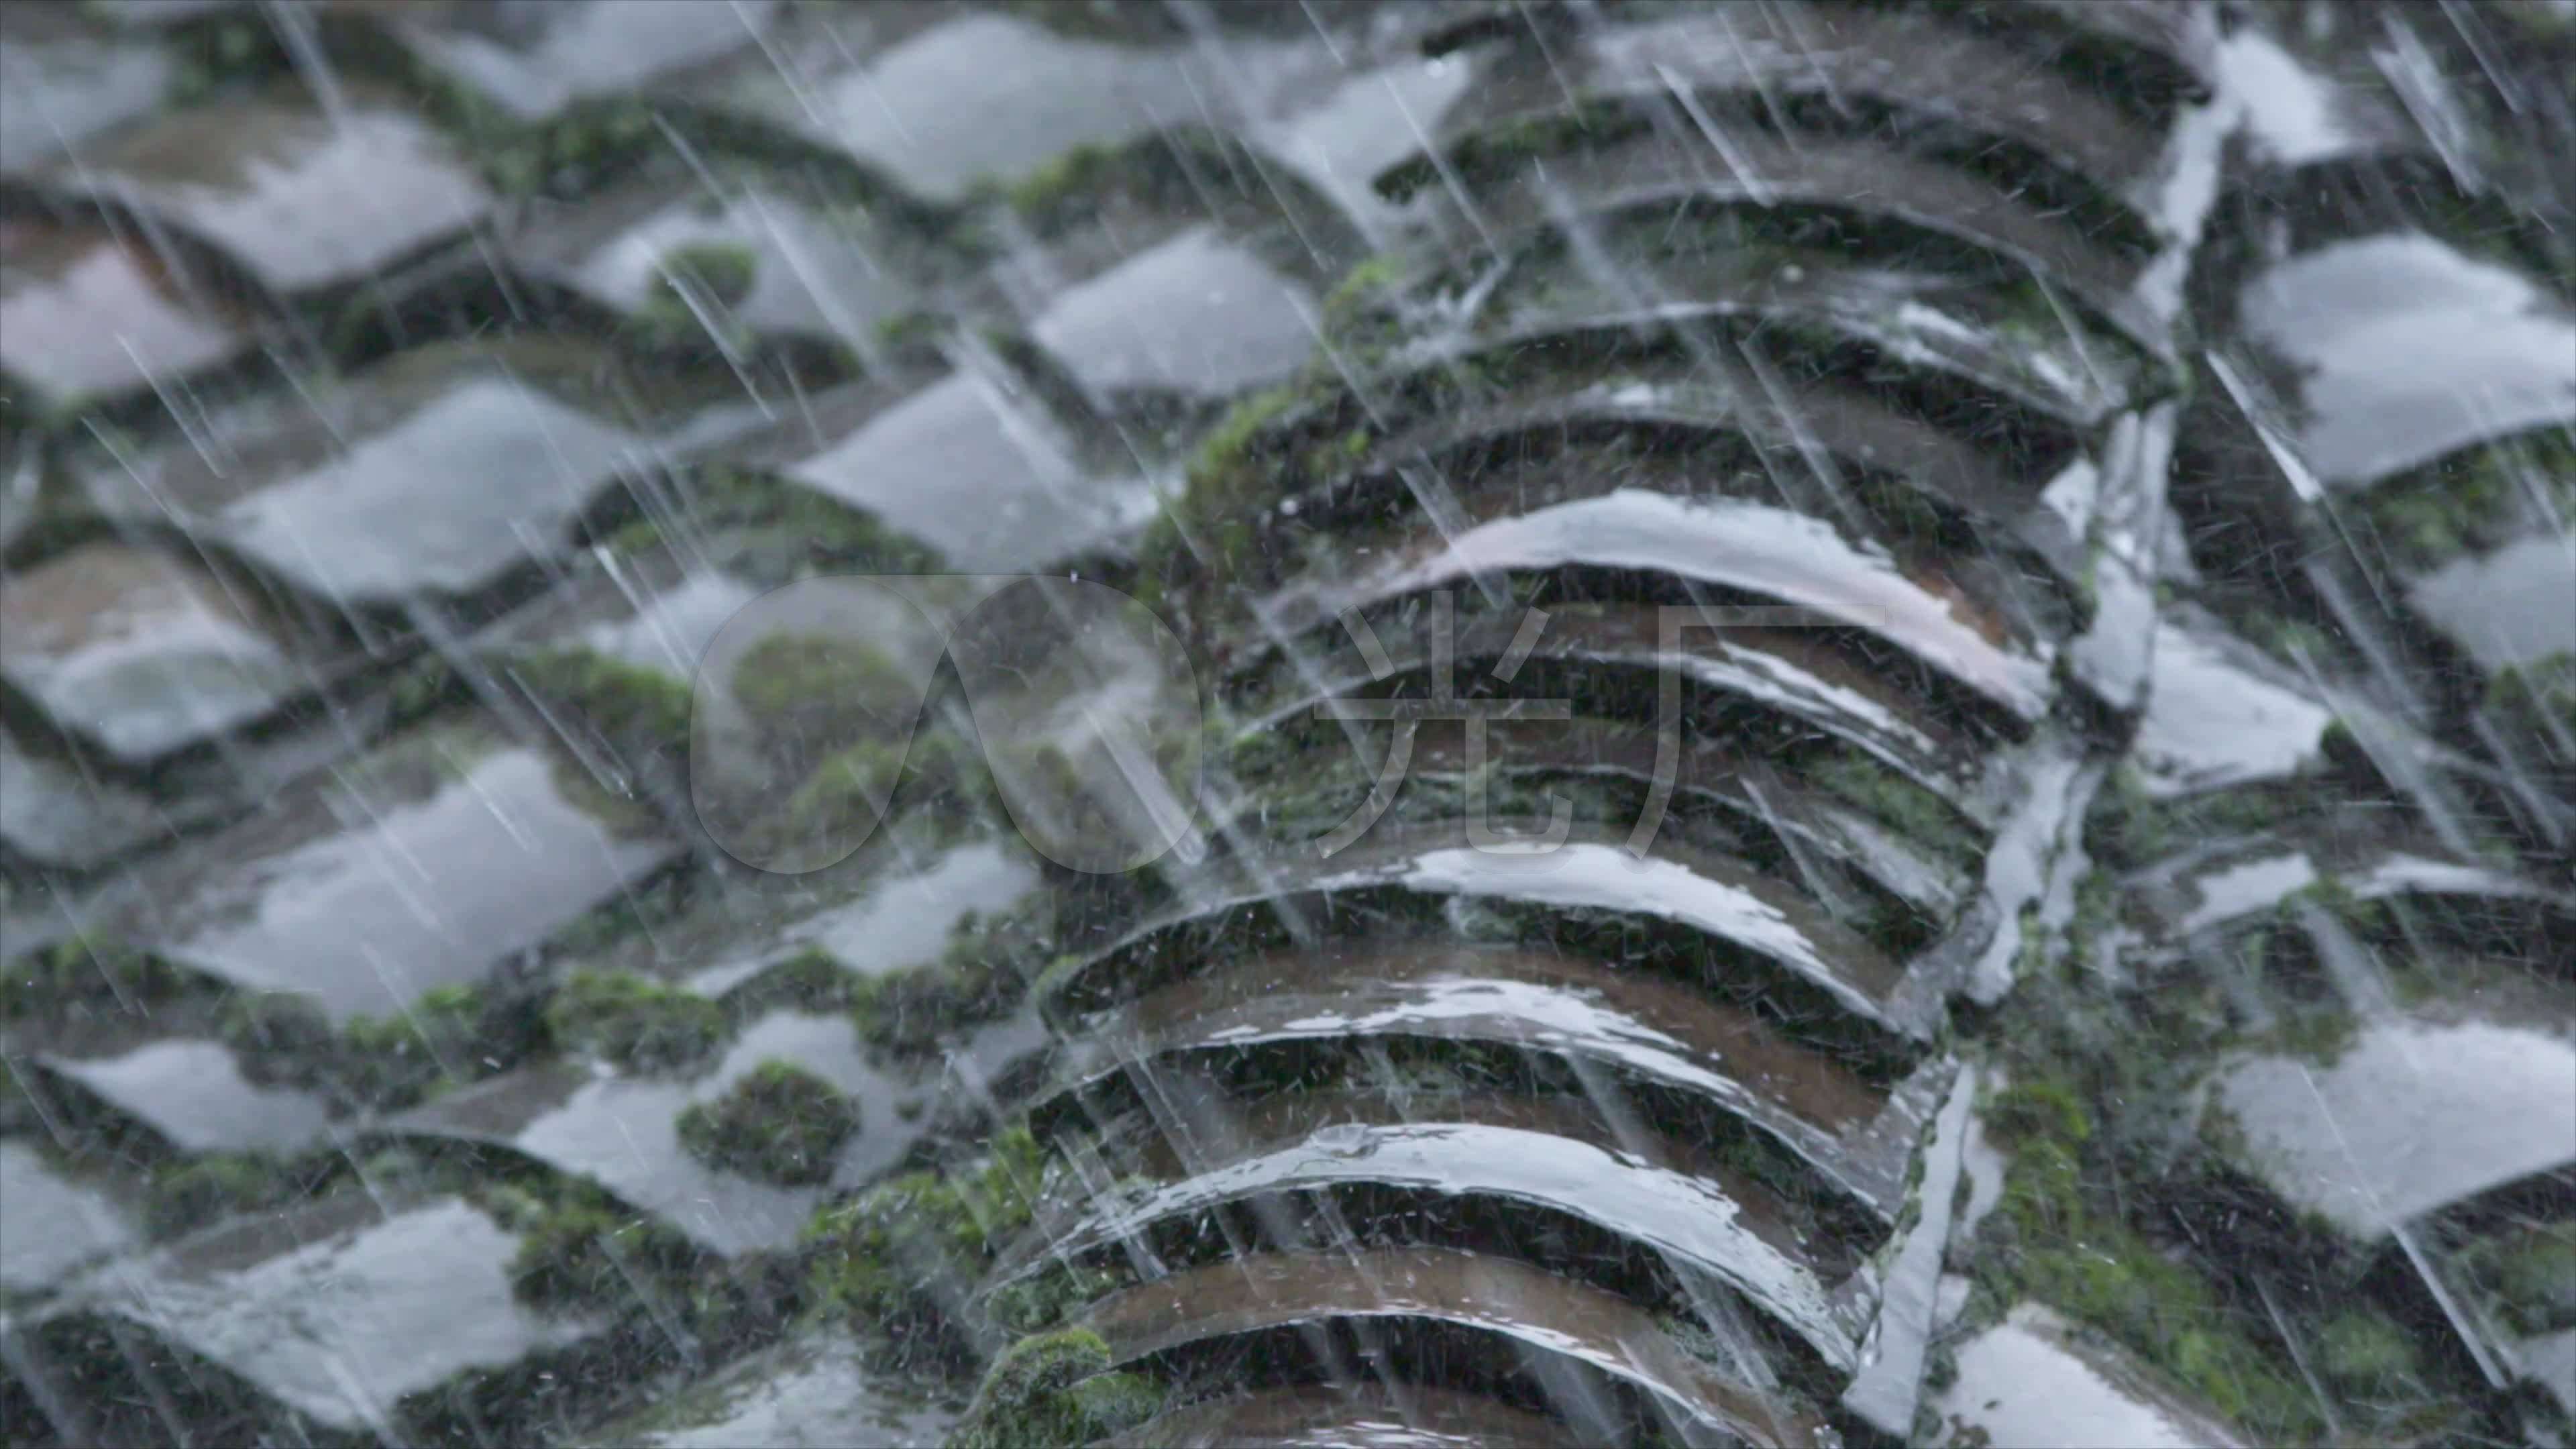
<instances>
[{"instance_id":1,"label":"wet brown-topped roof tile on left edge, directly below the pinkish tile","mask_svg":"<svg viewBox=\"0 0 2576 1449\"><path fill-rule=\"evenodd\" d=\"M10 580L0 678L126 761L260 719L309 681L247 601L167 554L111 541Z\"/></svg>"}]
</instances>

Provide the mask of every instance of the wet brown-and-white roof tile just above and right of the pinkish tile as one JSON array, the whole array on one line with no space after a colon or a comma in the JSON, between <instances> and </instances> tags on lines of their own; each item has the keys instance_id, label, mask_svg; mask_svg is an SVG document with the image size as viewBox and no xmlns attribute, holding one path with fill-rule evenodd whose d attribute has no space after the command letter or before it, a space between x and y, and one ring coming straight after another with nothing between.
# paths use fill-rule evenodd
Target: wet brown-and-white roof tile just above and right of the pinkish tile
<instances>
[{"instance_id":1,"label":"wet brown-and-white roof tile just above and right of the pinkish tile","mask_svg":"<svg viewBox=\"0 0 2576 1449\"><path fill-rule=\"evenodd\" d=\"M428 121L363 90L340 113L216 101L118 131L46 180L198 237L281 297L379 278L492 209Z\"/></svg>"}]
</instances>

